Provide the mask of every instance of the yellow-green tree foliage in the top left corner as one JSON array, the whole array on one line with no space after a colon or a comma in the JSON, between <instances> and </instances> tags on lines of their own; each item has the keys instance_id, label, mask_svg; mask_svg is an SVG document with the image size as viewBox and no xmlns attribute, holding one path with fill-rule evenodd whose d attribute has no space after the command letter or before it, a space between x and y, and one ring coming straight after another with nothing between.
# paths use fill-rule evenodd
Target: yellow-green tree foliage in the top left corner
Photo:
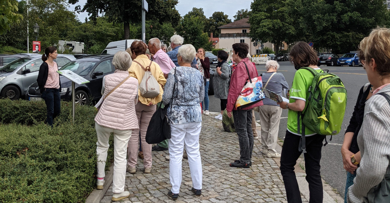
<instances>
[{"instance_id":1,"label":"yellow-green tree foliage in the top left corner","mask_svg":"<svg viewBox=\"0 0 390 203\"><path fill-rule=\"evenodd\" d=\"M0 0L0 35L11 29L13 24L20 23L23 16L18 13L17 0Z\"/></svg>"}]
</instances>

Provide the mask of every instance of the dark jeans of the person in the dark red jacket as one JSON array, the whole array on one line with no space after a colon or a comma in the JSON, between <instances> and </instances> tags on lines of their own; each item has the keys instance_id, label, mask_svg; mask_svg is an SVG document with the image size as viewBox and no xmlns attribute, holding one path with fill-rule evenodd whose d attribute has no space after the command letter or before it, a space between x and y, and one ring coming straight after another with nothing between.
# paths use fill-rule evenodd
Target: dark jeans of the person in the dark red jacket
<instances>
[{"instance_id":1,"label":"dark jeans of the person in the dark red jacket","mask_svg":"<svg viewBox=\"0 0 390 203\"><path fill-rule=\"evenodd\" d=\"M252 163L252 109L233 110L232 114L238 135L238 143L240 145L240 162L245 164Z\"/></svg>"}]
</instances>

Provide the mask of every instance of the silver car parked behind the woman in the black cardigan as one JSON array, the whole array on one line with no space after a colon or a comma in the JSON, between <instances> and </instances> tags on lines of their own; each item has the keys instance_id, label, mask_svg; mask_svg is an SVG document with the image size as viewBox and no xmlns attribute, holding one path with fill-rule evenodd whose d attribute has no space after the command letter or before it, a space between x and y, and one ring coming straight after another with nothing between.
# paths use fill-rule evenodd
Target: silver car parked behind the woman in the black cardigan
<instances>
[{"instance_id":1,"label":"silver car parked behind the woman in the black cardigan","mask_svg":"<svg viewBox=\"0 0 390 203\"><path fill-rule=\"evenodd\" d=\"M58 68L76 59L73 55L58 54ZM25 95L28 86L37 81L42 55L32 55L16 59L0 69L0 96L17 100Z\"/></svg>"}]
</instances>

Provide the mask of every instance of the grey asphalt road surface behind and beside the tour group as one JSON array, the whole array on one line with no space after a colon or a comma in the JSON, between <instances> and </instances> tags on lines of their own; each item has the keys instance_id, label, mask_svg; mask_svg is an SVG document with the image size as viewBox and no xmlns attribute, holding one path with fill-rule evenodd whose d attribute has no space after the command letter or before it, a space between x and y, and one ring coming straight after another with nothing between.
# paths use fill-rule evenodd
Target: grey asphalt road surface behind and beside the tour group
<instances>
[{"instance_id":1,"label":"grey asphalt road surface behind and beside the tour group","mask_svg":"<svg viewBox=\"0 0 390 203\"><path fill-rule=\"evenodd\" d=\"M283 73L290 85L293 82L295 69L289 61L279 62L279 72ZM259 74L266 72L264 65L256 66ZM333 188L337 189L341 196L344 197L346 172L342 164L341 145L344 140L344 132L349 124L349 119L352 116L353 108L355 107L356 99L360 88L368 82L367 75L363 67L349 66L320 66L321 69L329 69L330 73L335 73L344 82L347 89L347 108L344 115L343 125L338 135L333 135L332 141L329 141L330 136L327 136L329 144L324 146L321 158L321 176ZM290 89L289 88L289 89ZM220 112L220 100L213 95L209 95L209 110L212 112ZM259 114L256 114L256 120L259 120ZM279 125L279 137L284 139L287 128L287 110L283 110Z\"/></svg>"}]
</instances>

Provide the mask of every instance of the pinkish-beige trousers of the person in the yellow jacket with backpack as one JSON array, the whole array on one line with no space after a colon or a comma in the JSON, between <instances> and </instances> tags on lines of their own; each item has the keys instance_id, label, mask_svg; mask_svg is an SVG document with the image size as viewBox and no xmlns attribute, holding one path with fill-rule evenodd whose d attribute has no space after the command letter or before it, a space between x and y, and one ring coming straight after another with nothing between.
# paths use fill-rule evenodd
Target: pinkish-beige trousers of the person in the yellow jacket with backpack
<instances>
[{"instance_id":1,"label":"pinkish-beige trousers of the person in the yellow jacket with backpack","mask_svg":"<svg viewBox=\"0 0 390 203\"><path fill-rule=\"evenodd\" d=\"M138 102L135 105L135 112L138 118L138 124L140 126L139 130L133 130L128 144L128 162L127 165L131 168L135 168L137 165L137 155L139 150L139 133L141 132L141 145L142 153L144 153L144 167L152 167L152 145L146 143L145 135L147 127L149 126L150 119L152 118L154 112L156 111L156 105L147 106Z\"/></svg>"}]
</instances>

